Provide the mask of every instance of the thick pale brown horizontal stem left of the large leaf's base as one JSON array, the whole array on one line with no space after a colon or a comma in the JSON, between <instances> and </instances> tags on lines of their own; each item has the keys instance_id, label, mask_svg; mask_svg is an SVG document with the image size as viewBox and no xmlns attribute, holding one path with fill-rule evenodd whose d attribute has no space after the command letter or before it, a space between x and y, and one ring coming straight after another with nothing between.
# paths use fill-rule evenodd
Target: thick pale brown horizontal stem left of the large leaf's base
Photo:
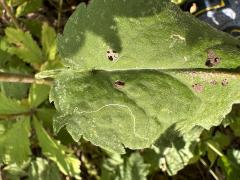
<instances>
[{"instance_id":1,"label":"thick pale brown horizontal stem left of the large leaf's base","mask_svg":"<svg viewBox=\"0 0 240 180\"><path fill-rule=\"evenodd\" d=\"M51 85L52 79L35 79L30 75L0 72L0 82L29 83Z\"/></svg>"}]
</instances>

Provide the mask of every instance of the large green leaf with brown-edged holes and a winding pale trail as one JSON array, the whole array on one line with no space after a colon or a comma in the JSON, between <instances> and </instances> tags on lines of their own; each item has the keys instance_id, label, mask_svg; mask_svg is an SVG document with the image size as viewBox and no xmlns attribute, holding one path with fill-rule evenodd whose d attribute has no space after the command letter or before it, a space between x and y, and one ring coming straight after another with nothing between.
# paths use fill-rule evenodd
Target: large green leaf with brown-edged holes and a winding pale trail
<instances>
[{"instance_id":1,"label":"large green leaf with brown-edged holes and a winding pale trail","mask_svg":"<svg viewBox=\"0 0 240 180\"><path fill-rule=\"evenodd\" d=\"M240 100L239 41L164 0L91 0L58 36L65 69L50 99L64 126L108 151L209 129ZM206 66L208 51L220 58Z\"/></svg>"}]
</instances>

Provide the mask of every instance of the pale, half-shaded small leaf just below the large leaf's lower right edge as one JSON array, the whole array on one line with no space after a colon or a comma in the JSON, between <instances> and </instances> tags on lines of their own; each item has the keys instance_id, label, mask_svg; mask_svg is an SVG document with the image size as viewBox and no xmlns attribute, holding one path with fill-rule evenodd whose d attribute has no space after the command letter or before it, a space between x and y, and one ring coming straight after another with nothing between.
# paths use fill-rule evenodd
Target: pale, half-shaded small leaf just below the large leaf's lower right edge
<instances>
[{"instance_id":1,"label":"pale, half-shaded small leaf just below the large leaf's lower right edge","mask_svg":"<svg viewBox=\"0 0 240 180\"><path fill-rule=\"evenodd\" d=\"M195 127L184 135L172 133L167 130L156 142L159 158L158 166L169 175L176 175L178 171L187 166L190 159L195 156L195 148L200 141L202 128Z\"/></svg>"}]
</instances>

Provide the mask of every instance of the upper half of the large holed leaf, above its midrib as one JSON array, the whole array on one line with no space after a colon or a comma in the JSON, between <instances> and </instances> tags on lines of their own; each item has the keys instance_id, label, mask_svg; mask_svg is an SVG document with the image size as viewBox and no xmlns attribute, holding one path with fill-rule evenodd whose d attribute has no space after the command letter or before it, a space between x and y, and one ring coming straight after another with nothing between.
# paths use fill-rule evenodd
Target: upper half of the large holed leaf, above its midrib
<instances>
[{"instance_id":1,"label":"upper half of the large holed leaf, above its midrib","mask_svg":"<svg viewBox=\"0 0 240 180\"><path fill-rule=\"evenodd\" d=\"M212 48L222 59L217 68L239 66L239 49L229 46L239 42L167 2L80 5L58 37L63 62L76 70L206 68L206 50ZM117 61L108 60L109 49L118 53Z\"/></svg>"}]
</instances>

